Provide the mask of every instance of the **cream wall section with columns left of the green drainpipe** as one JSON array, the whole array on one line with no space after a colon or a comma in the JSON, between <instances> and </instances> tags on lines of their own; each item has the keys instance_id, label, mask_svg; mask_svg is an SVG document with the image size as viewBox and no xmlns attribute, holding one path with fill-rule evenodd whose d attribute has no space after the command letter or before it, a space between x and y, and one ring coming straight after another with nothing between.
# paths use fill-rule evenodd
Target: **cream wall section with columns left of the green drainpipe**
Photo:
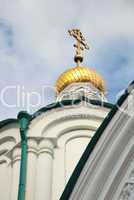
<instances>
[{"instance_id":1,"label":"cream wall section with columns left of the green drainpipe","mask_svg":"<svg viewBox=\"0 0 134 200\"><path fill-rule=\"evenodd\" d=\"M16 145L20 141L19 127L12 124L0 131L0 199L17 198L20 151Z\"/></svg>"}]
</instances>

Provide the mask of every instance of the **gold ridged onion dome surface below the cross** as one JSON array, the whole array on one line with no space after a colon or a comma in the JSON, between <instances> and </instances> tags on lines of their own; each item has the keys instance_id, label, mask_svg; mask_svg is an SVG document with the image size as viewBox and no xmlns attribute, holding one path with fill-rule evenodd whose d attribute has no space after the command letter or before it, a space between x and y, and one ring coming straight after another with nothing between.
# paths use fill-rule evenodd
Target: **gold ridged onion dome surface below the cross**
<instances>
[{"instance_id":1,"label":"gold ridged onion dome surface below the cross","mask_svg":"<svg viewBox=\"0 0 134 200\"><path fill-rule=\"evenodd\" d=\"M68 69L60 75L56 82L57 92L60 93L65 87L75 82L90 82L101 92L105 92L105 82L102 77L94 69L81 66Z\"/></svg>"}]
</instances>

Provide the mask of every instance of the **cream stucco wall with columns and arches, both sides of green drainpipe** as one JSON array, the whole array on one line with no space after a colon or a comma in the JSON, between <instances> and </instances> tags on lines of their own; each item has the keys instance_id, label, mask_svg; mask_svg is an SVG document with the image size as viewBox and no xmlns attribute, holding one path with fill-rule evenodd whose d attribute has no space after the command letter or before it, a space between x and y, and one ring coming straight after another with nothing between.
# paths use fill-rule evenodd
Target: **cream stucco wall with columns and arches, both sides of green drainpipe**
<instances>
[{"instance_id":1,"label":"cream stucco wall with columns and arches, both sides of green drainpipe","mask_svg":"<svg viewBox=\"0 0 134 200\"><path fill-rule=\"evenodd\" d=\"M59 199L83 151L108 112L108 108L81 103L52 109L31 121L26 200ZM17 199L19 143L18 125L1 129L0 199Z\"/></svg>"}]
</instances>

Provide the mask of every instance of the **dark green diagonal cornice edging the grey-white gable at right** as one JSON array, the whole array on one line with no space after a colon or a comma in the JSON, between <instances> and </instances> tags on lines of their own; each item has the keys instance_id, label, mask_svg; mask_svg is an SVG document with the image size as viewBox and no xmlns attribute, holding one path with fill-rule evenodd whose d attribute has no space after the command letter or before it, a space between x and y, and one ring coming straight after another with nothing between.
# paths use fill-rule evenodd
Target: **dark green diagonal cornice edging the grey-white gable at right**
<instances>
[{"instance_id":1,"label":"dark green diagonal cornice edging the grey-white gable at right","mask_svg":"<svg viewBox=\"0 0 134 200\"><path fill-rule=\"evenodd\" d=\"M78 162L71 178L69 179L65 190L60 198L60 200L69 200L69 197L71 196L71 193L77 183L77 180L86 164L86 161L90 157L93 149L95 148L98 140L100 139L101 135L103 134L104 130L118 111L119 107L123 104L123 102L126 100L126 98L129 96L130 92L134 89L134 81L129 85L129 87L125 90L124 94L119 98L117 103L113 106L112 110L109 112L107 117L104 119L100 127L97 129L95 135L89 142L85 152L83 153L80 161Z\"/></svg>"}]
</instances>

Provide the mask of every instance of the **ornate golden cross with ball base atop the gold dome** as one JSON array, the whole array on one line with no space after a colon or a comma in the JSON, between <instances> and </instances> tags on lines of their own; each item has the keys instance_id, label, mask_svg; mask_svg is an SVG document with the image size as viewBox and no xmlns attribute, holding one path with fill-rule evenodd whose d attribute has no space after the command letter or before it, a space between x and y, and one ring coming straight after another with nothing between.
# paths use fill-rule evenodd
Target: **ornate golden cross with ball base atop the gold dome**
<instances>
[{"instance_id":1,"label":"ornate golden cross with ball base atop the gold dome","mask_svg":"<svg viewBox=\"0 0 134 200\"><path fill-rule=\"evenodd\" d=\"M77 43L74 44L74 47L76 48L74 61L77 63L77 66L79 66L80 63L83 61L81 51L83 51L84 49L89 49L89 45L86 43L86 40L79 29L68 30L68 32L70 36L73 36L77 40Z\"/></svg>"}]
</instances>

